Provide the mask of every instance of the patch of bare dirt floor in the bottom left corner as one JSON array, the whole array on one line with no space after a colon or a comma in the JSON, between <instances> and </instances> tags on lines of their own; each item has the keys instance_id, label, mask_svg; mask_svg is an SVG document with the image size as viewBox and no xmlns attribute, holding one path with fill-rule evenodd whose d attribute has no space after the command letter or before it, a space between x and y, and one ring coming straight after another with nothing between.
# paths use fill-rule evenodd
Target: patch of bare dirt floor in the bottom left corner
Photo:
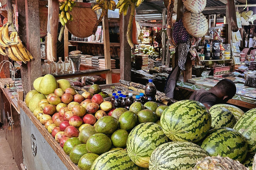
<instances>
[{"instance_id":1,"label":"patch of bare dirt floor in the bottom left corner","mask_svg":"<svg viewBox=\"0 0 256 170\"><path fill-rule=\"evenodd\" d=\"M4 130L0 129L0 170L18 170L18 166L12 156L8 141L5 139Z\"/></svg>"}]
</instances>

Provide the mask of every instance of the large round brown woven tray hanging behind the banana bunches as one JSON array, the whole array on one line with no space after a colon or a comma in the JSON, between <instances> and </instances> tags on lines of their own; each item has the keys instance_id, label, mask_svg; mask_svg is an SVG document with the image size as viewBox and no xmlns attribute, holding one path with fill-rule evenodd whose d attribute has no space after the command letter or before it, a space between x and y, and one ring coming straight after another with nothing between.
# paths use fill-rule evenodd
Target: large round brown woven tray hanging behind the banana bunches
<instances>
[{"instance_id":1,"label":"large round brown woven tray hanging behind the banana bunches","mask_svg":"<svg viewBox=\"0 0 256 170\"><path fill-rule=\"evenodd\" d=\"M91 8L74 7L73 21L68 21L68 31L78 38L87 38L92 35L92 30L97 22L97 15Z\"/></svg>"}]
</instances>

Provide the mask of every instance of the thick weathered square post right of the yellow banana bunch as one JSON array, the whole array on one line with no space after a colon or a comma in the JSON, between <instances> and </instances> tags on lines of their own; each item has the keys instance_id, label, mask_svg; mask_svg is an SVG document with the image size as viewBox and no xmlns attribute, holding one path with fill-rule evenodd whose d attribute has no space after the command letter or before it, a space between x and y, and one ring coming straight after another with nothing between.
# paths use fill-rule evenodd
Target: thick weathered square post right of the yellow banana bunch
<instances>
[{"instance_id":1,"label":"thick weathered square post right of the yellow banana bunch","mask_svg":"<svg viewBox=\"0 0 256 170\"><path fill-rule=\"evenodd\" d=\"M35 60L28 62L21 71L24 93L33 89L33 82L42 76L41 51L40 51L40 24L38 0L25 0L26 8L26 35L27 50L30 51ZM22 29L22 28L21 28ZM25 78L27 77L27 78Z\"/></svg>"}]
</instances>

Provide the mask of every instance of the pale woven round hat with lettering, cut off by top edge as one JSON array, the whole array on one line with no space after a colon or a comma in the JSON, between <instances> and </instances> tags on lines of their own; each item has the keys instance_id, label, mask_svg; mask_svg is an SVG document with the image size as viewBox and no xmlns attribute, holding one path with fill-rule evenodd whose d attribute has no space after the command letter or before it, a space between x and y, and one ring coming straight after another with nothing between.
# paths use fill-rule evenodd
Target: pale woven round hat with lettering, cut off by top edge
<instances>
[{"instance_id":1,"label":"pale woven round hat with lettering, cut off by top edge","mask_svg":"<svg viewBox=\"0 0 256 170\"><path fill-rule=\"evenodd\" d=\"M184 6L192 13L200 13L206 6L206 0L182 0Z\"/></svg>"}]
</instances>

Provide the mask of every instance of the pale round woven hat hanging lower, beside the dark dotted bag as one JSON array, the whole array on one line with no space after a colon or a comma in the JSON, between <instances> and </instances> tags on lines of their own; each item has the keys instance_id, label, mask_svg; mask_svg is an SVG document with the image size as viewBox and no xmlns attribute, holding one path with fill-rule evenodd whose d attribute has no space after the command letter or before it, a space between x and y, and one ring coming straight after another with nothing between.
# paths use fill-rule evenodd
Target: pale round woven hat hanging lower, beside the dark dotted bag
<instances>
[{"instance_id":1,"label":"pale round woven hat hanging lower, beside the dark dotted bag","mask_svg":"<svg viewBox=\"0 0 256 170\"><path fill-rule=\"evenodd\" d=\"M188 34L194 38L201 38L206 35L208 31L207 20L201 12L198 14L186 11L183 14L183 25L186 28Z\"/></svg>"}]
</instances>

